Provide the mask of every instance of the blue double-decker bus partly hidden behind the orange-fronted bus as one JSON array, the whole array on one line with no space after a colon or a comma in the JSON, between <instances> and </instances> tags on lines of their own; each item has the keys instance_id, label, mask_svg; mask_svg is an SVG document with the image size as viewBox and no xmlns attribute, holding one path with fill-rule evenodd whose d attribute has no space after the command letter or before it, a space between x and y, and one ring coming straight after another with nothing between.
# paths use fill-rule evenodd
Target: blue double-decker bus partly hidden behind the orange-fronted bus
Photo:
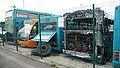
<instances>
[{"instance_id":1,"label":"blue double-decker bus partly hidden behind the orange-fronted bus","mask_svg":"<svg viewBox=\"0 0 120 68\"><path fill-rule=\"evenodd\" d=\"M55 14L36 12L23 9L12 9L5 14L5 34L6 42L15 44L16 32L19 31L24 25L23 20L38 19L40 17L56 16Z\"/></svg>"}]
</instances>

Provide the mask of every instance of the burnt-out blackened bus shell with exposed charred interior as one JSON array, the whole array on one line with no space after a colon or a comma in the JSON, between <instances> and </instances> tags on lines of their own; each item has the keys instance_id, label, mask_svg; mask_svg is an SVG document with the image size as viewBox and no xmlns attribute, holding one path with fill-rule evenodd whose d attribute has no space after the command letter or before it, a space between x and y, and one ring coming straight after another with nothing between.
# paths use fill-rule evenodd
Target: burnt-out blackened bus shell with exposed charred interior
<instances>
[{"instance_id":1,"label":"burnt-out blackened bus shell with exposed charred interior","mask_svg":"<svg viewBox=\"0 0 120 68\"><path fill-rule=\"evenodd\" d=\"M63 52L86 59L93 56L93 38L95 37L96 62L105 63L112 59L113 19L103 10L95 9L95 36L93 37L93 10L78 10L64 14Z\"/></svg>"}]
</instances>

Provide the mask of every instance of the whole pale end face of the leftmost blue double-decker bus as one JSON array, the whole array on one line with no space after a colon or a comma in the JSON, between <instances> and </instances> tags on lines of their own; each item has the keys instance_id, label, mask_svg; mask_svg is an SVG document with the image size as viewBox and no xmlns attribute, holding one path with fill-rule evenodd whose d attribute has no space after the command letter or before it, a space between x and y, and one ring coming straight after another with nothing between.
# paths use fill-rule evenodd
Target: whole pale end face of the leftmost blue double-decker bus
<instances>
[{"instance_id":1,"label":"whole pale end face of the leftmost blue double-decker bus","mask_svg":"<svg viewBox=\"0 0 120 68\"><path fill-rule=\"evenodd\" d=\"M14 23L13 23L14 10L9 10L5 14L5 34L7 43L14 44Z\"/></svg>"}]
</instances>

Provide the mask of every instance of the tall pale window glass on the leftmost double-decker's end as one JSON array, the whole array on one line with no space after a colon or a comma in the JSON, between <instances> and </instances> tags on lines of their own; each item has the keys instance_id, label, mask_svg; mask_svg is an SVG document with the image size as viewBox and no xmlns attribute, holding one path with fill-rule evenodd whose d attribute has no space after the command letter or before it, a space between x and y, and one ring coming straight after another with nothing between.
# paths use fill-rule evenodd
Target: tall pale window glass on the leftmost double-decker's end
<instances>
[{"instance_id":1,"label":"tall pale window glass on the leftmost double-decker's end","mask_svg":"<svg viewBox=\"0 0 120 68\"><path fill-rule=\"evenodd\" d=\"M13 10L10 10L5 14L5 30L13 34L13 27Z\"/></svg>"}]
</instances>

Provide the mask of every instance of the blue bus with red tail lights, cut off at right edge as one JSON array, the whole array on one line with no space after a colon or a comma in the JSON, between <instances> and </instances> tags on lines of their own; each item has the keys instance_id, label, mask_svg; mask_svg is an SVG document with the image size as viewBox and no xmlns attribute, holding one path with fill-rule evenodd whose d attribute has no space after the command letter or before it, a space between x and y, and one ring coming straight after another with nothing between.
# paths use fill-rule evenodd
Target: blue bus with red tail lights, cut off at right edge
<instances>
[{"instance_id":1,"label":"blue bus with red tail lights, cut off at right edge","mask_svg":"<svg viewBox=\"0 0 120 68\"><path fill-rule=\"evenodd\" d=\"M114 38L113 38L113 67L120 68L120 6L115 8Z\"/></svg>"}]
</instances>

